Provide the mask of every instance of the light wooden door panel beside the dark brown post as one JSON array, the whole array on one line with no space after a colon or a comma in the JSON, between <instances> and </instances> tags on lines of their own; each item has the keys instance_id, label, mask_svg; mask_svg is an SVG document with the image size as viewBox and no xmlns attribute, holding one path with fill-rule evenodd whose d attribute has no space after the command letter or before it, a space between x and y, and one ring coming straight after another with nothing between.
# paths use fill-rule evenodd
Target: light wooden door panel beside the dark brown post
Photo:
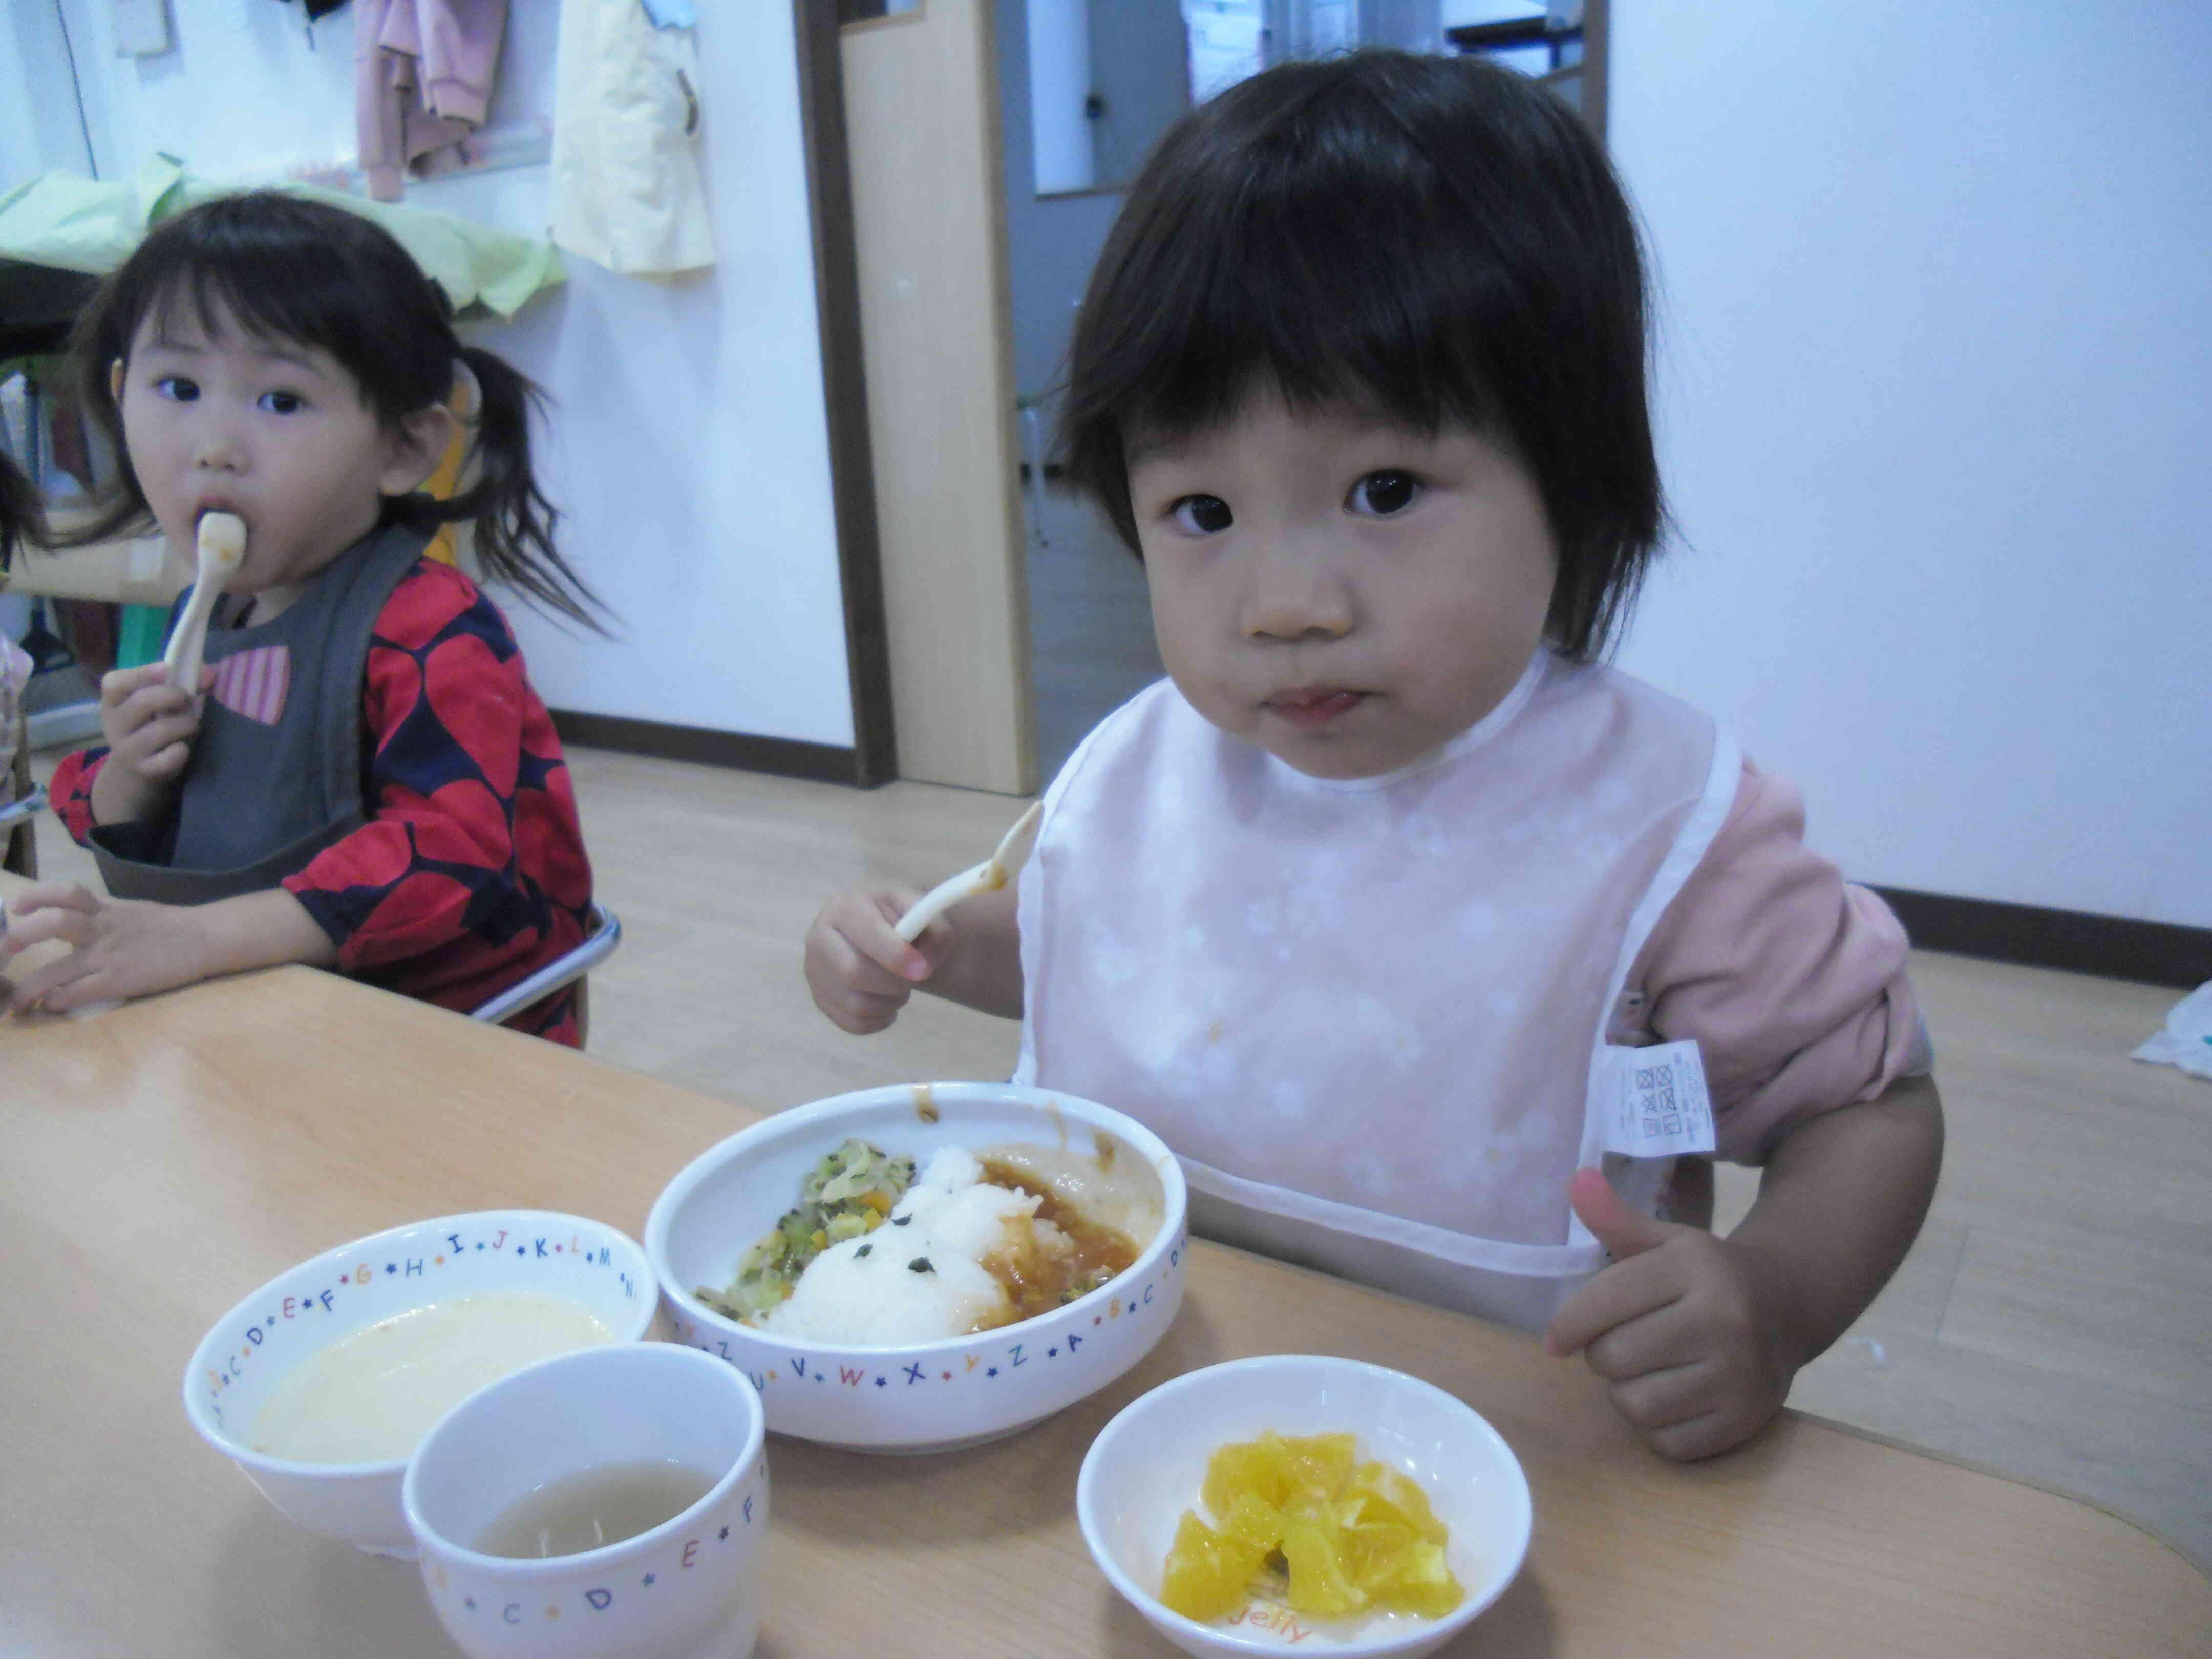
<instances>
[{"instance_id":1,"label":"light wooden door panel beside the dark brown post","mask_svg":"<svg viewBox=\"0 0 2212 1659\"><path fill-rule=\"evenodd\" d=\"M898 772L1031 794L993 22L922 0L838 46Z\"/></svg>"}]
</instances>

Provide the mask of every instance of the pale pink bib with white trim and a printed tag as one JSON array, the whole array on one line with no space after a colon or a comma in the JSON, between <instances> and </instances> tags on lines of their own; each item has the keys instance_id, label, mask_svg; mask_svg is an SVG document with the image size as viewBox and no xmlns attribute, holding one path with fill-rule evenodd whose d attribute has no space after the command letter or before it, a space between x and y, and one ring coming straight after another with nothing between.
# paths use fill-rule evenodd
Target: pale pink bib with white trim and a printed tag
<instances>
[{"instance_id":1,"label":"pale pink bib with white trim and a printed tag","mask_svg":"<svg viewBox=\"0 0 2212 1659\"><path fill-rule=\"evenodd\" d=\"M1159 1133L1194 1232L1540 1327L1606 1261L1573 1170L1637 1157L1617 1179L1648 1206L1666 1157L1712 1148L1697 1046L1608 1029L1739 770L1705 714L1548 653L1349 783L1161 681L1046 792L1015 1082Z\"/></svg>"}]
</instances>

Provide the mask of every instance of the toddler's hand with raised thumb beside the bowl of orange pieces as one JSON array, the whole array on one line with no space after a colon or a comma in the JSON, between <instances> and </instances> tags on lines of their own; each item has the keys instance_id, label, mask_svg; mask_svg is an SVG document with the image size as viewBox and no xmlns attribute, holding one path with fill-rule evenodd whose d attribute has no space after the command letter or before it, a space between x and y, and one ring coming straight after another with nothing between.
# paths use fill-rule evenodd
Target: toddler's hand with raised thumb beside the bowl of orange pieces
<instances>
[{"instance_id":1,"label":"toddler's hand with raised thumb beside the bowl of orange pieces","mask_svg":"<svg viewBox=\"0 0 2212 1659\"><path fill-rule=\"evenodd\" d=\"M1630 1210L1597 1170L1575 1172L1568 1201L1613 1265L1568 1296L1544 1347L1582 1349L1663 1458L1710 1458L1759 1433L1783 1409L1796 1360L1765 1318L1750 1254Z\"/></svg>"}]
</instances>

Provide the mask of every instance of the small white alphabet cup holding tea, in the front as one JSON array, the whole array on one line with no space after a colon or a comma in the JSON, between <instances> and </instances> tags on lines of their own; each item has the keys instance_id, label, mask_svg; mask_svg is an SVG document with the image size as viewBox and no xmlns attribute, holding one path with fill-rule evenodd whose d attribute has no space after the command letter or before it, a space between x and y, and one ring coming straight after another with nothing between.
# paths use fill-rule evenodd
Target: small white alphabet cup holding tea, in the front
<instances>
[{"instance_id":1,"label":"small white alphabet cup holding tea, in the front","mask_svg":"<svg viewBox=\"0 0 2212 1659\"><path fill-rule=\"evenodd\" d=\"M745 1659L761 1628L761 1396L672 1343L471 1394L400 1484L422 1588L471 1659Z\"/></svg>"}]
</instances>

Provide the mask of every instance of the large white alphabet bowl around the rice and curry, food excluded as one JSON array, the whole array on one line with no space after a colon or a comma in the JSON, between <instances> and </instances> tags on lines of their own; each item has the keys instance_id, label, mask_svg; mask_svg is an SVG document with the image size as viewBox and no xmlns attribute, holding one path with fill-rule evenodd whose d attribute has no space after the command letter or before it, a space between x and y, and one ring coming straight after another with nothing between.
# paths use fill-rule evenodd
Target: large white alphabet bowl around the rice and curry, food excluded
<instances>
[{"instance_id":1,"label":"large white alphabet bowl around the rice and curry, food excluded","mask_svg":"<svg viewBox=\"0 0 2212 1659\"><path fill-rule=\"evenodd\" d=\"M1013 1325L900 1347L794 1340L717 1314L695 1294L799 1201L807 1172L858 1135L918 1164L940 1146L1060 1148L1157 1183L1159 1225L1110 1283ZM1148 1188L1150 1192L1150 1188ZM1097 1102L1015 1084L894 1084L818 1099L697 1157L646 1219L646 1254L675 1340L752 1378L770 1433L847 1451L951 1451L1029 1427L1106 1387L1183 1305L1188 1194L1175 1152Z\"/></svg>"}]
</instances>

